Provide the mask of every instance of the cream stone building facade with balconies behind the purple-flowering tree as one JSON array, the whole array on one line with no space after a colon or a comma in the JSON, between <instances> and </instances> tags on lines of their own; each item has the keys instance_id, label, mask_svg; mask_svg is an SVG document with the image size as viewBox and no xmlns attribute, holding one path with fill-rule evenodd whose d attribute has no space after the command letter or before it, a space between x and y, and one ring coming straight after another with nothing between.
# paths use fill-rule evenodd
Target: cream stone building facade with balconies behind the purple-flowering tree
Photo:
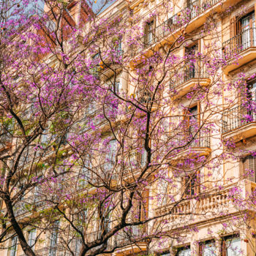
<instances>
[{"instance_id":1,"label":"cream stone building facade with balconies behind the purple-flowering tree","mask_svg":"<svg viewBox=\"0 0 256 256\"><path fill-rule=\"evenodd\" d=\"M80 56L87 59L92 83L110 94L104 94L103 104L103 94L88 89L85 116L78 111L78 124L72 124L86 129L97 150L72 144L78 141L75 137L64 141L64 133L61 153L56 154L61 161L72 158L74 148L89 155L76 163L74 176L56 178L54 186L61 184L62 194L67 192L76 202L81 193L91 199L80 214L80 206L71 207L70 198L60 196L58 206L77 217L72 224L83 226L86 244L107 236L120 222L120 191L134 184L141 190L137 195L129 188L122 194L124 201L130 192L135 194L127 214L133 224L114 232L99 254L255 255L255 8L253 0L117 0L86 21L92 15L88 7L77 1L67 5L63 20L80 32L73 54L86 49ZM64 42L72 48L71 32L64 31ZM42 59L57 65L56 56ZM89 76L79 79L91 83ZM45 135L40 140L50 139ZM37 170L42 173L51 157L45 155ZM101 187L119 202L106 206L104 218L99 212L96 217L89 203L98 202L97 193L105 195ZM38 219L48 219L53 199L37 189L15 206L19 221L37 219L24 227L29 246L37 255L80 255L83 243L69 232L67 219L56 214L50 229L40 229ZM5 208L3 204L3 213ZM24 255L17 236L8 238L5 247L1 255Z\"/></svg>"}]
</instances>

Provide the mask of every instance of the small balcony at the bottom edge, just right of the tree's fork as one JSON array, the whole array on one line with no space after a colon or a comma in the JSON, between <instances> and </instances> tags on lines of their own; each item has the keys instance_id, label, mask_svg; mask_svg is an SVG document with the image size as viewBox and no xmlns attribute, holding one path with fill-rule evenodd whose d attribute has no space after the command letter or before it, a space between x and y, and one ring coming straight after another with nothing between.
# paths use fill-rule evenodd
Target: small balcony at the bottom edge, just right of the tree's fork
<instances>
[{"instance_id":1,"label":"small balcony at the bottom edge, just right of the tree's fork","mask_svg":"<svg viewBox=\"0 0 256 256\"><path fill-rule=\"evenodd\" d=\"M114 252L115 255L129 255L146 251L148 241L143 239L146 235L145 230L140 227L127 227L115 236L113 247L120 247Z\"/></svg>"}]
</instances>

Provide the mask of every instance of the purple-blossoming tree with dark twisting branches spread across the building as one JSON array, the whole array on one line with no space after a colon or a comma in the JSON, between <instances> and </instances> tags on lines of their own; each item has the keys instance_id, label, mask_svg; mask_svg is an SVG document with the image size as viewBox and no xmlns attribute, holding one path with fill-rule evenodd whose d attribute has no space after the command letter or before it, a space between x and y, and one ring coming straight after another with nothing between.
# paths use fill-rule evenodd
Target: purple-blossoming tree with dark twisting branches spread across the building
<instances>
[{"instance_id":1,"label":"purple-blossoming tree with dark twisting branches spread across the building","mask_svg":"<svg viewBox=\"0 0 256 256\"><path fill-rule=\"evenodd\" d=\"M220 113L241 100L247 123L255 105L243 74L223 79L239 54L219 45L216 17L189 29L210 6L177 3L168 18L167 1L143 18L107 15L108 1L28 2L1 1L1 248L17 237L29 256L150 253L197 218L219 218L220 233L251 222L249 168L223 168L242 152ZM227 223L231 200L241 218Z\"/></svg>"}]
</instances>

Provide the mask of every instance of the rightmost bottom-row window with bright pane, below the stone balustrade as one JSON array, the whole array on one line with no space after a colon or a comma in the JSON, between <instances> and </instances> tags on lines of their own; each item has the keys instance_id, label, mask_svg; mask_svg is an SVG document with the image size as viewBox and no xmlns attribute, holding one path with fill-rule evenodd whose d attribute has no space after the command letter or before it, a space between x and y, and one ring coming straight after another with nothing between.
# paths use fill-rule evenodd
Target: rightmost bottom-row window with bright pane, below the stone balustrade
<instances>
[{"instance_id":1,"label":"rightmost bottom-row window with bright pane, below the stone balustrade","mask_svg":"<svg viewBox=\"0 0 256 256\"><path fill-rule=\"evenodd\" d=\"M239 236L226 236L222 240L222 256L241 255L241 240Z\"/></svg>"}]
</instances>

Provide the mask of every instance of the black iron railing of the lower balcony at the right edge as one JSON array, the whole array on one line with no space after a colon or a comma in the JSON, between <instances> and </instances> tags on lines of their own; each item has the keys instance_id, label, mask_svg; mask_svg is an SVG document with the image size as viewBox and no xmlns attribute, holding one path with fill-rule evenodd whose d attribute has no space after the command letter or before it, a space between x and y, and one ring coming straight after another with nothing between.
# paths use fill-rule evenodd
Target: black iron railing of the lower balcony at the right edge
<instances>
[{"instance_id":1,"label":"black iron railing of the lower balcony at the right edge","mask_svg":"<svg viewBox=\"0 0 256 256\"><path fill-rule=\"evenodd\" d=\"M251 109L250 106L238 105L222 113L222 133L230 132L244 126L244 124L256 121L256 114Z\"/></svg>"}]
</instances>

